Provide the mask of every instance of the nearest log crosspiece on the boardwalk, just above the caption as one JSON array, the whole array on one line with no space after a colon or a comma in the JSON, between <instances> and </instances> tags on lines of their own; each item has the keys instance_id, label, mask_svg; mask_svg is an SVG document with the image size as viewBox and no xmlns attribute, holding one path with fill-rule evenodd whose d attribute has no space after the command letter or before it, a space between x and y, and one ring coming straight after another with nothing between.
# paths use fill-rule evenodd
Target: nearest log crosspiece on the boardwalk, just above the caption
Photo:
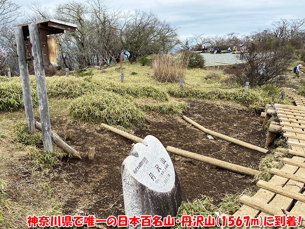
<instances>
[{"instance_id":1,"label":"nearest log crosspiece on the boardwalk, just above the caption","mask_svg":"<svg viewBox=\"0 0 305 229\"><path fill-rule=\"evenodd\" d=\"M270 204L259 201L259 199L251 198L247 195L242 195L239 197L239 202L248 205L252 208L258 209L261 212L270 214L271 216L283 215L283 212L280 208L276 208ZM286 209L285 209L286 210ZM293 215L290 212L286 211L287 215ZM301 226L305 227L305 222L302 221Z\"/></svg>"}]
</instances>

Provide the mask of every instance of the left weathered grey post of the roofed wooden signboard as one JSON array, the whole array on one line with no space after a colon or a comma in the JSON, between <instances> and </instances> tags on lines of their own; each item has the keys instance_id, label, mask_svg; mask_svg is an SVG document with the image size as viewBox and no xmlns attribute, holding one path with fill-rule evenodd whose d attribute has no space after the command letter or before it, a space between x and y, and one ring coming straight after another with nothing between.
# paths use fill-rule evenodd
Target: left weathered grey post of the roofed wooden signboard
<instances>
[{"instance_id":1,"label":"left weathered grey post of the roofed wooden signboard","mask_svg":"<svg viewBox=\"0 0 305 229\"><path fill-rule=\"evenodd\" d=\"M35 119L33 111L33 101L30 87L29 70L27 68L27 57L24 47L24 36L22 27L14 27L18 62L20 68L20 78L23 93L23 102L27 127L30 132L35 132Z\"/></svg>"}]
</instances>

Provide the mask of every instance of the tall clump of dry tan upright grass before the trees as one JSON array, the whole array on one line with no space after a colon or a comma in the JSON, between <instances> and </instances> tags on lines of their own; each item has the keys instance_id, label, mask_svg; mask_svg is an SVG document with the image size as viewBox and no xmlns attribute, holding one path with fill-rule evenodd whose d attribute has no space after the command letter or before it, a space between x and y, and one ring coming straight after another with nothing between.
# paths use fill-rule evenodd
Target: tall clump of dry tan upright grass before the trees
<instances>
[{"instance_id":1,"label":"tall clump of dry tan upright grass before the trees","mask_svg":"<svg viewBox=\"0 0 305 229\"><path fill-rule=\"evenodd\" d=\"M183 52L178 56L159 53L153 58L154 79L158 82L178 82L185 78L191 52Z\"/></svg>"}]
</instances>

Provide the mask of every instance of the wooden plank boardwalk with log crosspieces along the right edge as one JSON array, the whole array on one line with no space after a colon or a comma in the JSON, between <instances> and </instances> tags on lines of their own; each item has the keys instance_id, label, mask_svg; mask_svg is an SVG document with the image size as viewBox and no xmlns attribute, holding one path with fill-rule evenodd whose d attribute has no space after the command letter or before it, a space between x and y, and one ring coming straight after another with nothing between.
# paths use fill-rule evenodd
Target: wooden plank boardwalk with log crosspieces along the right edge
<instances>
[{"instance_id":1,"label":"wooden plank boardwalk with log crosspieces along the right edge","mask_svg":"<svg viewBox=\"0 0 305 229\"><path fill-rule=\"evenodd\" d=\"M253 197L240 198L243 205L235 217L283 215L281 208L292 215L305 216L305 194L300 193L305 183L305 97L284 91L297 106L274 104L272 109L278 115L283 135L291 148L289 153L294 156L281 158L285 165L280 170L272 169L275 175L268 182L258 181L260 189ZM305 227L305 221L302 221L302 226Z\"/></svg>"}]
</instances>

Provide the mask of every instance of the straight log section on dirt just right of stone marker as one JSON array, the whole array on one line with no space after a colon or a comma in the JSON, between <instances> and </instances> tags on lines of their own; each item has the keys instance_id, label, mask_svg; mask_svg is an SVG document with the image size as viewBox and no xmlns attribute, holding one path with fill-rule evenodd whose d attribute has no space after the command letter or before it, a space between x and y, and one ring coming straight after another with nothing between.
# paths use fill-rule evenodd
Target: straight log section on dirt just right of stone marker
<instances>
[{"instance_id":1,"label":"straight log section on dirt just right of stone marker","mask_svg":"<svg viewBox=\"0 0 305 229\"><path fill-rule=\"evenodd\" d=\"M171 146L166 147L166 150L170 153L173 153L173 154L177 154L177 155L180 155L180 156L183 156L183 157L186 157L186 158L191 158L193 160L204 162L204 163L207 163L207 164L210 164L210 165L214 165L214 166L217 166L219 168L227 169L227 170L230 170L230 171L233 171L233 172L236 172L236 173L241 173L241 174L245 174L245 175L252 175L252 176L260 173L259 171L255 170L255 169L250 169L250 168L247 168L247 167L244 167L244 166L241 166L241 165L235 165L235 164L232 164L232 163L229 163L229 162L224 162L224 161L221 161L221 160L218 160L218 159L215 159L215 158L210 158L210 157L203 156L203 155L200 155L200 154L195 154L195 153L185 151L185 150L181 150L181 149L171 147Z\"/></svg>"}]
</instances>

